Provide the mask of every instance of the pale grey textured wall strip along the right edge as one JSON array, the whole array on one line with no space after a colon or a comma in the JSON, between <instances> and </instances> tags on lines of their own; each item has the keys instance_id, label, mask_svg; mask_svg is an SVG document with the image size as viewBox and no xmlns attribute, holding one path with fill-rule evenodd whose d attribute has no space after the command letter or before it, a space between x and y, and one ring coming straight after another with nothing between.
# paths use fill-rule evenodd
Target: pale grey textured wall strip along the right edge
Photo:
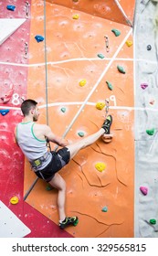
<instances>
[{"instance_id":1,"label":"pale grey textured wall strip along the right edge","mask_svg":"<svg viewBox=\"0 0 158 256\"><path fill-rule=\"evenodd\" d=\"M135 22L135 236L157 231L157 1L137 4ZM140 188L143 187L141 191ZM139 195L139 196L138 196Z\"/></svg>"}]
</instances>

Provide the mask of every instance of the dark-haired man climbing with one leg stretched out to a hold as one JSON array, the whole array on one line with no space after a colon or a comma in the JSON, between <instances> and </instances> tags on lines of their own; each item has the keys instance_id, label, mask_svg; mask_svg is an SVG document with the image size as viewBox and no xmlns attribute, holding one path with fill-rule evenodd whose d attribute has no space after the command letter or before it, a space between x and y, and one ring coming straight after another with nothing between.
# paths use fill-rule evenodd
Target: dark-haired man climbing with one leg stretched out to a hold
<instances>
[{"instance_id":1,"label":"dark-haired man climbing with one leg stretched out to a hold","mask_svg":"<svg viewBox=\"0 0 158 256\"><path fill-rule=\"evenodd\" d=\"M24 119L15 128L16 144L19 145L28 159L35 174L58 189L59 228L65 229L68 225L76 226L78 217L67 217L65 213L66 183L58 171L67 165L69 160L78 154L79 150L95 143L100 136L112 139L110 133L112 117L109 115L97 133L69 144L68 140L58 137L46 124L36 123L39 117L37 101L26 100L21 104ZM48 151L47 141L58 144L62 148L58 151Z\"/></svg>"}]
</instances>

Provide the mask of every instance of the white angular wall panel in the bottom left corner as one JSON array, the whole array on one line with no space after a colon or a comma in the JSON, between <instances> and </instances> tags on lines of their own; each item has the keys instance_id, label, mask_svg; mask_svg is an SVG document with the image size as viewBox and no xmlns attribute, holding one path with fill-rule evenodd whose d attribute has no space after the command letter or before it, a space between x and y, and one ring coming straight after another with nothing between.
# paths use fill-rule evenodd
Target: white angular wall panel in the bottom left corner
<instances>
[{"instance_id":1,"label":"white angular wall panel in the bottom left corner","mask_svg":"<svg viewBox=\"0 0 158 256\"><path fill-rule=\"evenodd\" d=\"M23 238L30 232L31 230L0 201L0 238Z\"/></svg>"}]
</instances>

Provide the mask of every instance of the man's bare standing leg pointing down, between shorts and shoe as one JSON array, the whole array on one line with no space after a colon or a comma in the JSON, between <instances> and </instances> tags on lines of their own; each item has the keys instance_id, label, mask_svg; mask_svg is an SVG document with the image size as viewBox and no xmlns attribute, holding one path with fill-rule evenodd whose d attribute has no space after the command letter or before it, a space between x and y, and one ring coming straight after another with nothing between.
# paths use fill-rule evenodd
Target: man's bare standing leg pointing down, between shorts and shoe
<instances>
[{"instance_id":1,"label":"man's bare standing leg pointing down, between shorts and shoe","mask_svg":"<svg viewBox=\"0 0 158 256\"><path fill-rule=\"evenodd\" d=\"M66 197L66 183L64 179L56 173L55 176L52 178L51 181L49 181L49 184L52 187L55 187L58 189L58 214L59 219L64 220L66 218L65 213L65 197Z\"/></svg>"}]
</instances>

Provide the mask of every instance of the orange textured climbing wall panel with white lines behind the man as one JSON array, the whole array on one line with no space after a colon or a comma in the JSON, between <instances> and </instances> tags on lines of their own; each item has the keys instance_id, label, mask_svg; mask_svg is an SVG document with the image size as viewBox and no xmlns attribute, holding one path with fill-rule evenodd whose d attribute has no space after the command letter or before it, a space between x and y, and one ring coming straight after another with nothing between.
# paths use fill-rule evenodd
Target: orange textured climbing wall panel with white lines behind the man
<instances>
[{"instance_id":1,"label":"orange textured climbing wall panel with white lines behind the man","mask_svg":"<svg viewBox=\"0 0 158 256\"><path fill-rule=\"evenodd\" d=\"M74 237L133 237L133 52L125 43L132 40L132 28L124 21L111 21L116 13L111 12L109 19L105 19L57 2L58 5L47 2L46 101L44 41L35 40L36 35L44 36L44 6L43 1L32 1L27 98L39 102L40 123L47 122L48 102L48 123L53 132L63 135L68 129L67 138L73 142L81 139L79 132L87 136L98 131L103 123L105 109L98 110L96 102L108 98L113 116L112 143L99 140L80 151L60 171L67 182L67 213L79 216L79 225L67 231ZM128 10L129 4L121 2ZM129 16L132 16L134 1L131 5ZM73 18L76 14L78 19ZM121 35L115 37L112 28L119 29ZM109 52L105 35L109 37ZM121 74L117 65L126 73ZM86 85L80 87L79 81L83 79ZM112 84L112 91L108 89L107 80ZM66 112L61 112L62 107ZM70 125L74 118L74 124ZM103 172L95 168L99 162L106 165ZM35 178L26 161L24 193ZM56 199L57 191L47 191L47 184L38 180L26 202L58 224ZM107 212L102 211L104 207L108 208Z\"/></svg>"}]
</instances>

